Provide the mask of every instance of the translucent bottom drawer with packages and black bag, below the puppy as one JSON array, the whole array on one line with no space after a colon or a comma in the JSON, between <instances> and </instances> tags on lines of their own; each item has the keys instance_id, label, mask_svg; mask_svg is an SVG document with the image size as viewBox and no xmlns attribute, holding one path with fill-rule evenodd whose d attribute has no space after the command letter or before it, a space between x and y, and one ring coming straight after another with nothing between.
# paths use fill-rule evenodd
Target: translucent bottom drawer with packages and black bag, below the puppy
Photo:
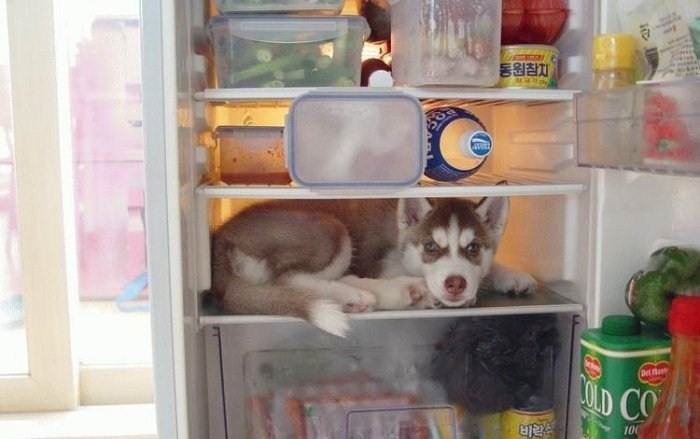
<instances>
[{"instance_id":1,"label":"translucent bottom drawer with packages and black bag, below the puppy","mask_svg":"<svg viewBox=\"0 0 700 439\"><path fill-rule=\"evenodd\" d=\"M208 326L210 437L564 438L573 321L368 320L347 339L303 322Z\"/></svg>"}]
</instances>

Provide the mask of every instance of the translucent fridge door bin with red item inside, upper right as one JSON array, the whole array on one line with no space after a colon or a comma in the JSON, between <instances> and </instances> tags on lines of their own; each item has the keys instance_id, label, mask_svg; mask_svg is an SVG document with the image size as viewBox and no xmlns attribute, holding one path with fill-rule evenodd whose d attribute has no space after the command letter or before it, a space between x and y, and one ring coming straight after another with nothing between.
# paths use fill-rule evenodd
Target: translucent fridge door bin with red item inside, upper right
<instances>
[{"instance_id":1,"label":"translucent fridge door bin with red item inside, upper right","mask_svg":"<svg viewBox=\"0 0 700 439\"><path fill-rule=\"evenodd\" d=\"M700 175L700 80L576 95L581 166Z\"/></svg>"}]
</instances>

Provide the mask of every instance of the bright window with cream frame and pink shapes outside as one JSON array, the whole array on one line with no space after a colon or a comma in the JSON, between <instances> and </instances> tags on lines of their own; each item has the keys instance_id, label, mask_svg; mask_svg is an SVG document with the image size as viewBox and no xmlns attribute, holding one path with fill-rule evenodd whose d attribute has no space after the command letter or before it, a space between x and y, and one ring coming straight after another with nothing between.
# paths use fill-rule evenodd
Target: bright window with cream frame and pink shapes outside
<instances>
[{"instance_id":1,"label":"bright window with cream frame and pink shapes outside","mask_svg":"<svg viewBox=\"0 0 700 439\"><path fill-rule=\"evenodd\" d=\"M138 14L0 0L0 412L152 401Z\"/></svg>"}]
</instances>

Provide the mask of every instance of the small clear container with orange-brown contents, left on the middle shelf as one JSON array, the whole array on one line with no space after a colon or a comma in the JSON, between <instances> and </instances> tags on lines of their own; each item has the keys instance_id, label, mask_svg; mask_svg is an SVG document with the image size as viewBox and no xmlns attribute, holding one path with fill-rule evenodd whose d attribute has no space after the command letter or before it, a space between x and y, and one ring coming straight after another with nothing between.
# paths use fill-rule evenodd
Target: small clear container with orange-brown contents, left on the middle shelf
<instances>
[{"instance_id":1,"label":"small clear container with orange-brown contents, left on the middle shelf","mask_svg":"<svg viewBox=\"0 0 700 439\"><path fill-rule=\"evenodd\" d=\"M282 127L218 127L210 174L227 184L289 184L282 133Z\"/></svg>"}]
</instances>

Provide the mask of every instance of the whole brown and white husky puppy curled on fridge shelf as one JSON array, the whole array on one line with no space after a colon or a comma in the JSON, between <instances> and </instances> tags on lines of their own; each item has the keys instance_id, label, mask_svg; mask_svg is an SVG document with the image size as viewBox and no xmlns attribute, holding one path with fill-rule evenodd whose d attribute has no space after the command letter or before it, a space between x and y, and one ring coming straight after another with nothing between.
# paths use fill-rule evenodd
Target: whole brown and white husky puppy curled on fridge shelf
<instances>
[{"instance_id":1,"label":"whole brown and white husky puppy curled on fridge shelf","mask_svg":"<svg viewBox=\"0 0 700 439\"><path fill-rule=\"evenodd\" d=\"M344 336L345 313L472 306L487 277L531 291L532 276L493 263L507 216L500 197L256 204L214 233L213 297Z\"/></svg>"}]
</instances>

